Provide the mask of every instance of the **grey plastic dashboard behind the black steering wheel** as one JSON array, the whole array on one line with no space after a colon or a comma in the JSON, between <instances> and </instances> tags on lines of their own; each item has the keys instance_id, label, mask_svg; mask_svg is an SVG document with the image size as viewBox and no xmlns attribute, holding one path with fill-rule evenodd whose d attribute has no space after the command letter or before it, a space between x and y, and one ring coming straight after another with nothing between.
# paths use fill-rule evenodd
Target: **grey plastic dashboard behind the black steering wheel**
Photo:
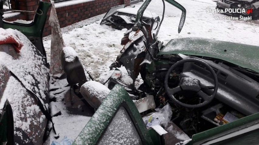
<instances>
[{"instance_id":1,"label":"grey plastic dashboard behind the black steering wheel","mask_svg":"<svg viewBox=\"0 0 259 145\"><path fill-rule=\"evenodd\" d=\"M196 58L205 61L215 71L219 87L215 98L238 110L244 115L259 112L259 83L245 74L223 64L194 56L180 55L181 58ZM192 77L201 81L201 86L214 86L213 77L202 65L185 63L180 77ZM211 93L213 90L206 90Z\"/></svg>"}]
</instances>

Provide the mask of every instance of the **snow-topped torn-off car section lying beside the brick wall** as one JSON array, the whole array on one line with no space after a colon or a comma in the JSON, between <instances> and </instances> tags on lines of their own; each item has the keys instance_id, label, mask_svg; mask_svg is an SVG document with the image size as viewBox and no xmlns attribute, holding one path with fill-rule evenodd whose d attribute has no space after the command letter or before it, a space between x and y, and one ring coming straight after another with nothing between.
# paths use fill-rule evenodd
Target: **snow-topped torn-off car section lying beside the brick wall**
<instances>
[{"instance_id":1,"label":"snow-topped torn-off car section lying beside the brick wall","mask_svg":"<svg viewBox=\"0 0 259 145\"><path fill-rule=\"evenodd\" d=\"M109 11L105 14L105 16L102 18L102 21L100 25L110 25L113 28L116 29L130 29L133 27L136 14L139 8L131 7L131 8L125 8L125 5L117 5L114 7L111 7ZM157 29L158 24L160 22L160 17L152 12L144 12L143 14L143 22L149 24L152 29Z\"/></svg>"}]
</instances>

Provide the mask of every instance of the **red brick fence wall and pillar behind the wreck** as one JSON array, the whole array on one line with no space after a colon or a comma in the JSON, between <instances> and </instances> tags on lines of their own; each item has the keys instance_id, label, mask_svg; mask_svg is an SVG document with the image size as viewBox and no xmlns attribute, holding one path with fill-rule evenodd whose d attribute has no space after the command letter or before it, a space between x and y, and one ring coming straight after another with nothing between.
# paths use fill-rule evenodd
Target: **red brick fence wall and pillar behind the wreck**
<instances>
[{"instance_id":1,"label":"red brick fence wall and pillar behind the wreck","mask_svg":"<svg viewBox=\"0 0 259 145\"><path fill-rule=\"evenodd\" d=\"M49 0L47 0L49 1ZM12 9L26 10L26 11L36 11L38 6L37 0L17 0L12 2ZM18 4L17 4L18 3ZM130 0L94 0L90 2L82 2L74 5L64 5L61 3L56 3L56 12L59 20L60 28L66 27L68 25L74 24L78 21L82 21L91 18L96 15L103 14L109 10L110 7L116 5L125 4L130 5ZM50 13L50 10L49 10ZM23 14L22 18L24 20L32 20L34 13ZM14 18L7 18L6 21L14 21ZM19 17L21 19L21 17ZM43 31L43 37L51 34L51 27L48 24L48 17L46 25Z\"/></svg>"}]
</instances>

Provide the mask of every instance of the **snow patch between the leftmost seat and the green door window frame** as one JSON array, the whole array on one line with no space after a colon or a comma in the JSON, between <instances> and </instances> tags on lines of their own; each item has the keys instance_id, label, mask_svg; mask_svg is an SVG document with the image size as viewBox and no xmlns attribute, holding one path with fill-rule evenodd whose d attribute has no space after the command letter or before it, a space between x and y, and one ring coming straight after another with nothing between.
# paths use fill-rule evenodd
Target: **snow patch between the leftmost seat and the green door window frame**
<instances>
[{"instance_id":1,"label":"snow patch between the leftmost seat and the green door window frame","mask_svg":"<svg viewBox=\"0 0 259 145\"><path fill-rule=\"evenodd\" d=\"M51 89L54 91L51 91ZM60 143L60 141L63 140L65 136L67 136L68 139L74 140L91 118L83 115L69 113L67 107L64 104L64 96L67 91L70 91L70 86L68 86L66 79L56 80L53 84L50 84L50 98L56 98L55 102L50 102L51 112L54 113L60 110L61 115L52 117L54 127L59 138L55 139L57 135L51 131L49 136L49 143L46 142L45 145L51 144L53 141Z\"/></svg>"}]
</instances>

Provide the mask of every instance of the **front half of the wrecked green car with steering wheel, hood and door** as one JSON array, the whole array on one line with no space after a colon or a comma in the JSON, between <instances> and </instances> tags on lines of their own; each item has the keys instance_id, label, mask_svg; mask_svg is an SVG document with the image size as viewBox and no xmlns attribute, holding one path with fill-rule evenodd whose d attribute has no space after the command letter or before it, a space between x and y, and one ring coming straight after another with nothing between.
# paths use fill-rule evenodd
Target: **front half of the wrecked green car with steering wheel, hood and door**
<instances>
[{"instance_id":1,"label":"front half of the wrecked green car with steering wheel, hood and door","mask_svg":"<svg viewBox=\"0 0 259 145\"><path fill-rule=\"evenodd\" d=\"M180 33L186 10L174 0L166 1L182 11ZM157 40L163 17L155 34L141 20L149 3L138 10L110 66L124 66L132 84L109 81L111 92L73 144L257 144L259 53L254 52L259 47L195 37L163 45ZM136 89L138 75L143 84ZM139 107L146 97L152 99L150 95L154 102ZM161 110L171 115L165 124Z\"/></svg>"}]
</instances>

